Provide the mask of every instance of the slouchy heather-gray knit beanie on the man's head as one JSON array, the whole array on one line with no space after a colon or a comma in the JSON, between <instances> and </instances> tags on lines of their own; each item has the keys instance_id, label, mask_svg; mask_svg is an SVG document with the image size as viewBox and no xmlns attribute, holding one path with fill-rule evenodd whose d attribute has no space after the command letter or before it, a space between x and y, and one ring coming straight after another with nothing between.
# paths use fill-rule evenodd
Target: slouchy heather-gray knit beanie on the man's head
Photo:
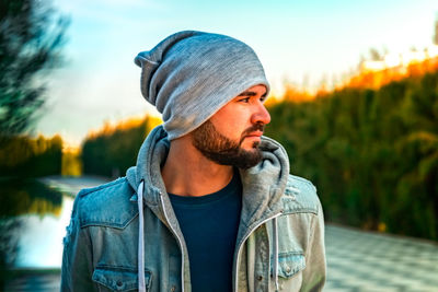
<instances>
[{"instance_id":1,"label":"slouchy heather-gray knit beanie on the man's head","mask_svg":"<svg viewBox=\"0 0 438 292\"><path fill-rule=\"evenodd\" d=\"M224 35L180 32L138 54L135 63L141 94L162 114L169 140L193 131L251 86L269 91L254 50Z\"/></svg>"}]
</instances>

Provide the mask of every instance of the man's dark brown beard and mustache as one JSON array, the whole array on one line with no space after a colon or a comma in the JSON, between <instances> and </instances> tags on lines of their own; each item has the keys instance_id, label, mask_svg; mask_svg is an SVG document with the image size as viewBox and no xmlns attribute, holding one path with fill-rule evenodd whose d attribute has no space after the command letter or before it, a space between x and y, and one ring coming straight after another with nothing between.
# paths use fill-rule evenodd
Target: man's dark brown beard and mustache
<instances>
[{"instance_id":1,"label":"man's dark brown beard and mustache","mask_svg":"<svg viewBox=\"0 0 438 292\"><path fill-rule=\"evenodd\" d=\"M264 127L261 122L253 125L243 131L240 141L237 142L218 132L215 125L207 120L193 131L193 145L204 156L218 164L247 170L262 161L260 142L254 142L252 150L244 150L241 144L249 133L263 131Z\"/></svg>"}]
</instances>

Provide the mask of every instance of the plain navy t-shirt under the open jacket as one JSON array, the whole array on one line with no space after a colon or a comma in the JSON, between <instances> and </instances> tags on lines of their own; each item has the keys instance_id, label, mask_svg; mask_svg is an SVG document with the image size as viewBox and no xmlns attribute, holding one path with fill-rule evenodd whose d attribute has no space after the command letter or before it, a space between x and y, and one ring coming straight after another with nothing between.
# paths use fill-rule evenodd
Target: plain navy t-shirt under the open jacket
<instances>
[{"instance_id":1,"label":"plain navy t-shirt under the open jacket","mask_svg":"<svg viewBox=\"0 0 438 292\"><path fill-rule=\"evenodd\" d=\"M192 291L232 291L232 264L242 184L238 172L221 190L201 197L169 194L191 264Z\"/></svg>"}]
</instances>

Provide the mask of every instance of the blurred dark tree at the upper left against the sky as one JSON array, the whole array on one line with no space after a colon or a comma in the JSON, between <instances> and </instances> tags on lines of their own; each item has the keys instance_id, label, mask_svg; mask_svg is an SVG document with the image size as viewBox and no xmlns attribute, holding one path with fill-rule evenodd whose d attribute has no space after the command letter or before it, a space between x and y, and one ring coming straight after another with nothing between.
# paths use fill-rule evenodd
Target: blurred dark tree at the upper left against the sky
<instances>
[{"instance_id":1,"label":"blurred dark tree at the upper left against the sky","mask_svg":"<svg viewBox=\"0 0 438 292\"><path fill-rule=\"evenodd\" d=\"M47 1L0 0L0 137L22 133L35 119L42 78L59 65L68 23Z\"/></svg>"}]
</instances>

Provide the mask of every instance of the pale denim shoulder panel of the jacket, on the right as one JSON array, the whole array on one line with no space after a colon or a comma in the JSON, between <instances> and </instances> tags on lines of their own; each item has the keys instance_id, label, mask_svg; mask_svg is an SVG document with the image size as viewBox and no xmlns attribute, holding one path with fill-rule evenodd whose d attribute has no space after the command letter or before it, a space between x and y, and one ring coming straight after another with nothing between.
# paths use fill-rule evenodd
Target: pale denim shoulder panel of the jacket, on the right
<instances>
[{"instance_id":1,"label":"pale denim shoulder panel of the jacket, on the right","mask_svg":"<svg viewBox=\"0 0 438 292\"><path fill-rule=\"evenodd\" d=\"M308 179L289 175L281 198L285 213L321 212L321 202L315 186Z\"/></svg>"}]
</instances>

